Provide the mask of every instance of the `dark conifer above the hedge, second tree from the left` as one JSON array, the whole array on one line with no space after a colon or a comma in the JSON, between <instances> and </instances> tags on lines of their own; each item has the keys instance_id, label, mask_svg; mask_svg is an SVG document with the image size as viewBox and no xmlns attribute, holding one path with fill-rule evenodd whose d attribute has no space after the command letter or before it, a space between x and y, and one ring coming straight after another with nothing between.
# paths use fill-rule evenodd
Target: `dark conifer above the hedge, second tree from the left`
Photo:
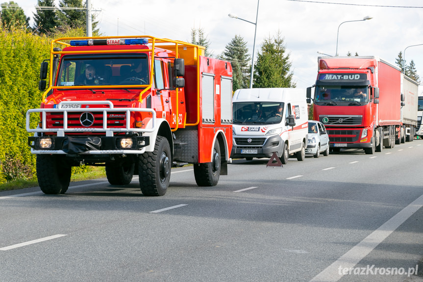
<instances>
[{"instance_id":1,"label":"dark conifer above the hedge, second tree from the left","mask_svg":"<svg viewBox=\"0 0 423 282\"><path fill-rule=\"evenodd\" d=\"M40 7L54 7L54 0L38 0L37 5ZM51 34L55 31L57 23L57 14L53 9L37 9L34 13L35 32L39 34Z\"/></svg>"}]
</instances>

